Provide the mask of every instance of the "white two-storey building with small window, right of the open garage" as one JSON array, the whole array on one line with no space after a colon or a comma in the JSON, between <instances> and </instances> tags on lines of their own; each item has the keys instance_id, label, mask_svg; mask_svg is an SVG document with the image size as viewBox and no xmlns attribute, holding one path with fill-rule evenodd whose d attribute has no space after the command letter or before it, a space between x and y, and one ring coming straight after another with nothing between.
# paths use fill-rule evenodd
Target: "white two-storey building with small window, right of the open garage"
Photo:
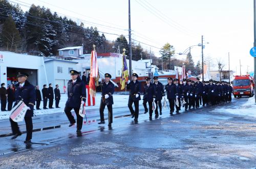
<instances>
[{"instance_id":1,"label":"white two-storey building with small window, right of the open garage","mask_svg":"<svg viewBox=\"0 0 256 169\"><path fill-rule=\"evenodd\" d=\"M70 70L77 69L78 62L60 60L60 59L46 59L45 67L47 72L47 80L52 83L53 87L59 85L60 93L65 93L65 88L68 87L70 80ZM49 85L47 83L46 85Z\"/></svg>"}]
</instances>

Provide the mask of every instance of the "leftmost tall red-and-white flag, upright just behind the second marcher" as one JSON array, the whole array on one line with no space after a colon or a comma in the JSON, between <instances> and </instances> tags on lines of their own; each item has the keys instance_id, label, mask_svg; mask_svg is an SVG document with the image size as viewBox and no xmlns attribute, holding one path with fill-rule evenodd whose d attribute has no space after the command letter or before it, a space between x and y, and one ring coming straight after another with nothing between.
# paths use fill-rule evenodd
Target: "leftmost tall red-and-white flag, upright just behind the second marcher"
<instances>
[{"instance_id":1,"label":"leftmost tall red-and-white flag, upright just behind the second marcher","mask_svg":"<svg viewBox=\"0 0 256 169\"><path fill-rule=\"evenodd\" d=\"M98 86L99 82L99 68L97 63L97 52L95 50L91 53L91 73L90 73L90 94L92 97L96 95L96 86ZM96 84L96 86L95 86Z\"/></svg>"}]
</instances>

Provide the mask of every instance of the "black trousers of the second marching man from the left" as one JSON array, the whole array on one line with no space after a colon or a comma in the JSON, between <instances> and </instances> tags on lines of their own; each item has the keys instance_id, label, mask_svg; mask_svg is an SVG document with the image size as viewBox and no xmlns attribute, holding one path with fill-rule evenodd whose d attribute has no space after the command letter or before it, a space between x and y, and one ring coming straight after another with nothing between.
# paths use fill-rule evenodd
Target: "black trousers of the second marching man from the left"
<instances>
[{"instance_id":1,"label":"black trousers of the second marching man from the left","mask_svg":"<svg viewBox=\"0 0 256 169\"><path fill-rule=\"evenodd\" d=\"M76 123L75 119L74 119L74 116L72 116L71 114L71 110L73 109L73 107L68 107L66 106L64 108L64 111L69 119L69 122L70 124L74 124ZM75 107L74 110L75 110L75 113L76 113L76 119L77 119L77 123L76 123L76 129L77 130L81 130L82 129L82 120L83 118L79 115L79 109L80 107Z\"/></svg>"}]
</instances>

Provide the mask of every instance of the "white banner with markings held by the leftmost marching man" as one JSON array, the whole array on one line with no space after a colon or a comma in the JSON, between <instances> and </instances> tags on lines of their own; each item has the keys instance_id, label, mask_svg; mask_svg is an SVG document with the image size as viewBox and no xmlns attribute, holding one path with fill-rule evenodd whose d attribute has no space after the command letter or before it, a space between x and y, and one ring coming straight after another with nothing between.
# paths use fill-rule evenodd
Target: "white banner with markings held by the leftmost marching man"
<instances>
[{"instance_id":1,"label":"white banner with markings held by the leftmost marching man","mask_svg":"<svg viewBox=\"0 0 256 169\"><path fill-rule=\"evenodd\" d=\"M30 108L22 100L20 100L18 104L12 108L10 118L14 122L22 122L27 110L29 109Z\"/></svg>"}]
</instances>

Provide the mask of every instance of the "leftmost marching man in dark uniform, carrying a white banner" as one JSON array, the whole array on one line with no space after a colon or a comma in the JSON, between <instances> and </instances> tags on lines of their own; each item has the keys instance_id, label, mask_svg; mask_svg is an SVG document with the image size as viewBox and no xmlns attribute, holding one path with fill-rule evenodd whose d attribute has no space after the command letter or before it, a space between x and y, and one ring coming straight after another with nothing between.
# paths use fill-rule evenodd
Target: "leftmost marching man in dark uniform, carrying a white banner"
<instances>
[{"instance_id":1,"label":"leftmost marching man in dark uniform, carrying a white banner","mask_svg":"<svg viewBox=\"0 0 256 169\"><path fill-rule=\"evenodd\" d=\"M15 101L17 104L20 100L23 100L24 103L30 108L27 110L26 115L24 117L26 123L26 130L27 136L24 143L31 143L32 139L32 131L33 131L33 110L34 110L34 103L35 103L35 88L33 85L29 83L27 80L28 74L24 72L18 72L18 83L15 85ZM22 135L19 130L18 123L14 122L10 119L13 137L17 138L17 136Z\"/></svg>"}]
</instances>

